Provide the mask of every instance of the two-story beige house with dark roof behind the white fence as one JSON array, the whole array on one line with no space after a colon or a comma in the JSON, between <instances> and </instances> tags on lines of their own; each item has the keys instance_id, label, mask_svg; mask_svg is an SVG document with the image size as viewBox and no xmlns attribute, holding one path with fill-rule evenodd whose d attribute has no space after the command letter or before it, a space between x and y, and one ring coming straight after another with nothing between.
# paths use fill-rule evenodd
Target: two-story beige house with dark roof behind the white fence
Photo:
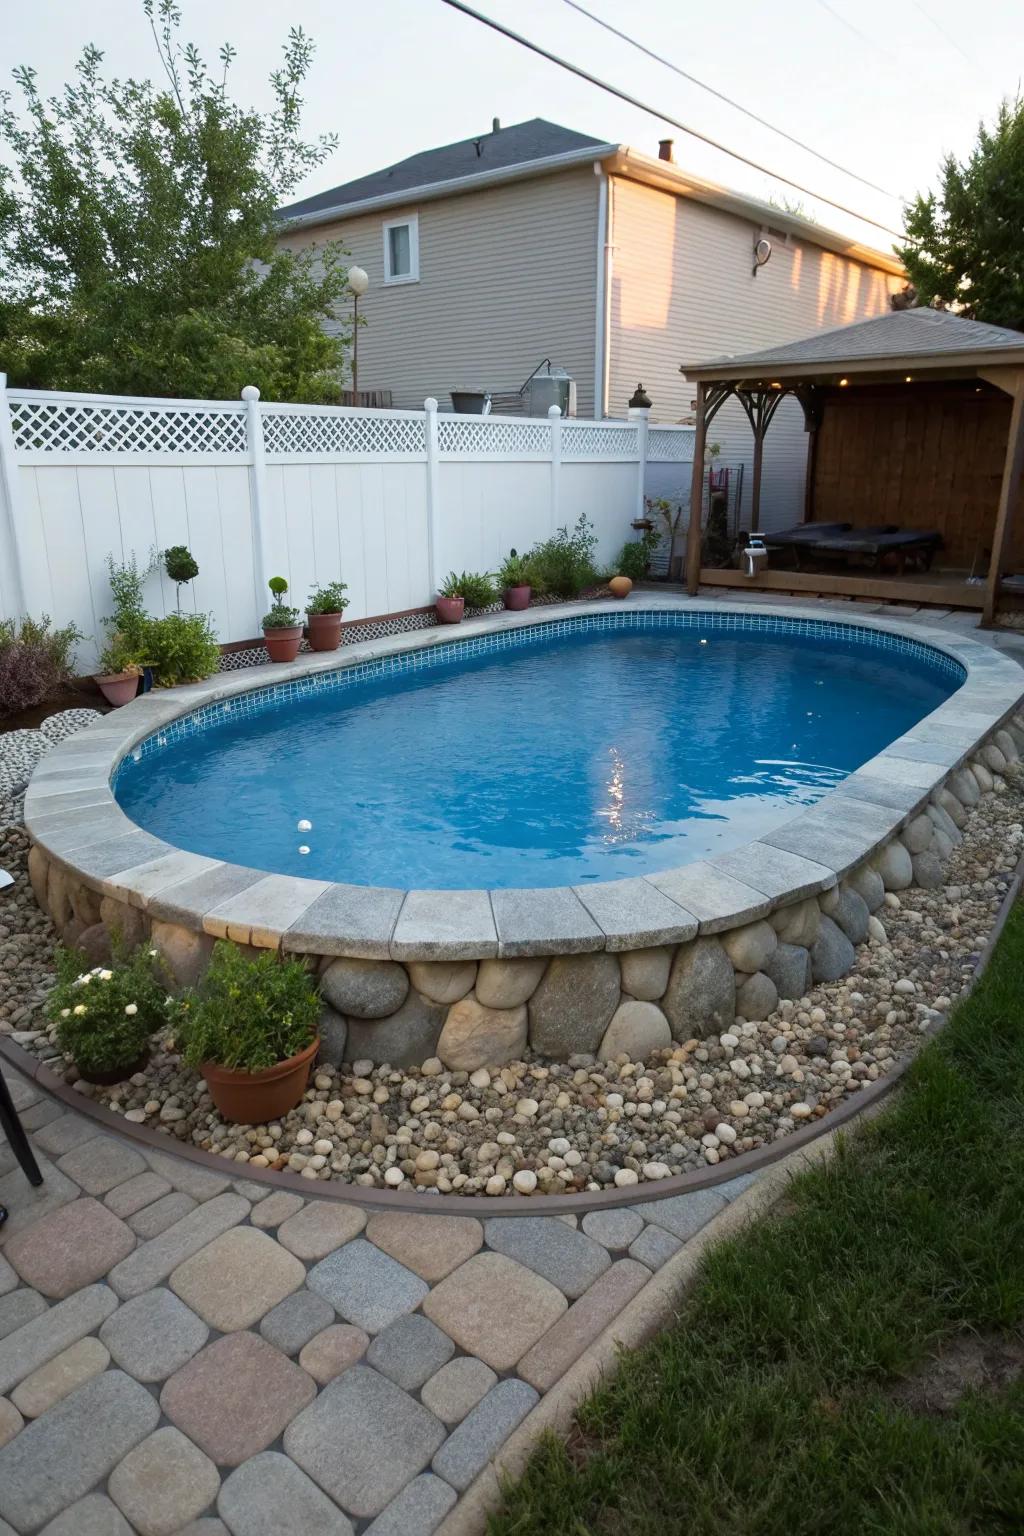
<instances>
[{"instance_id":1,"label":"two-story beige house with dark roof behind the white fence","mask_svg":"<svg viewBox=\"0 0 1024 1536\"><path fill-rule=\"evenodd\" d=\"M290 246L339 240L370 286L359 389L396 407L517 389L543 358L580 416L623 416L642 381L652 421L685 421L682 358L751 352L884 313L892 255L688 175L659 155L534 118L430 149L281 210ZM723 458L749 459L735 402ZM804 465L786 402L766 445L763 519ZM789 501L789 510L794 502Z\"/></svg>"}]
</instances>

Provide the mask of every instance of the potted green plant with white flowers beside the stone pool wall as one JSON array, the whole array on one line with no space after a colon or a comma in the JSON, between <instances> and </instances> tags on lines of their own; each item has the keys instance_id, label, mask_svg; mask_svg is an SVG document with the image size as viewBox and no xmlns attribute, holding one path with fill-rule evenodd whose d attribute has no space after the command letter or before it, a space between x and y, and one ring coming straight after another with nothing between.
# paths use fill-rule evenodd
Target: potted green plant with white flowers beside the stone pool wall
<instances>
[{"instance_id":1,"label":"potted green plant with white flowers beside the stone pool wall","mask_svg":"<svg viewBox=\"0 0 1024 1536\"><path fill-rule=\"evenodd\" d=\"M57 946L57 985L46 1014L57 1025L57 1044L86 1083L123 1083L149 1060L152 1037L167 1026L167 978L155 949L115 946L111 966L89 969L80 949Z\"/></svg>"}]
</instances>

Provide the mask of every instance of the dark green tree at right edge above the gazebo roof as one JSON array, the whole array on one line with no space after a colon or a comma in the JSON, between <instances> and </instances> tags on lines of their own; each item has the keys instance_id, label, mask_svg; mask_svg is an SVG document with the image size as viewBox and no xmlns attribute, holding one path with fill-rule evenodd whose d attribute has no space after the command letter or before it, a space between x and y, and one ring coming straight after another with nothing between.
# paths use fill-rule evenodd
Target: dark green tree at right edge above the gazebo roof
<instances>
[{"instance_id":1,"label":"dark green tree at right edge above the gazebo roof","mask_svg":"<svg viewBox=\"0 0 1024 1536\"><path fill-rule=\"evenodd\" d=\"M1024 101L1003 101L963 164L946 157L941 190L917 197L904 227L921 304L1024 330Z\"/></svg>"}]
</instances>

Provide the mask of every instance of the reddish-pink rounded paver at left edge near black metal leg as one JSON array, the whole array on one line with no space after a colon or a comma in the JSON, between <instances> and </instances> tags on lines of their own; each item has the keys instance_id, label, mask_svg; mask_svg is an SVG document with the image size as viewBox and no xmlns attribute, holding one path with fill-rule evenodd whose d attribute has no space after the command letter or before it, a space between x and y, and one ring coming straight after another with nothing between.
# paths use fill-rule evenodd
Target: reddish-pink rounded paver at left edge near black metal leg
<instances>
[{"instance_id":1,"label":"reddish-pink rounded paver at left edge near black metal leg","mask_svg":"<svg viewBox=\"0 0 1024 1536\"><path fill-rule=\"evenodd\" d=\"M135 1247L135 1233L98 1200L83 1195L51 1210L8 1243L21 1279L54 1301L109 1273Z\"/></svg>"}]
</instances>

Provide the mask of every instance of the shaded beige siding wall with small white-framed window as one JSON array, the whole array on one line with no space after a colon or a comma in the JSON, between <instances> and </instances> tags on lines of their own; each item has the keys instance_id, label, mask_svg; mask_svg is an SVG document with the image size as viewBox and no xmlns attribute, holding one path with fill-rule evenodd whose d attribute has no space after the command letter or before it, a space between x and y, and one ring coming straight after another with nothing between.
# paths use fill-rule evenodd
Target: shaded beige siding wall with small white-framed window
<instances>
[{"instance_id":1,"label":"shaded beige siding wall with small white-framed window","mask_svg":"<svg viewBox=\"0 0 1024 1536\"><path fill-rule=\"evenodd\" d=\"M453 389L517 389L551 358L594 413L599 181L588 164L482 192L410 203L296 232L289 244L341 240L365 267L359 389L390 389L402 409ZM384 223L419 215L419 281L384 283Z\"/></svg>"}]
</instances>

